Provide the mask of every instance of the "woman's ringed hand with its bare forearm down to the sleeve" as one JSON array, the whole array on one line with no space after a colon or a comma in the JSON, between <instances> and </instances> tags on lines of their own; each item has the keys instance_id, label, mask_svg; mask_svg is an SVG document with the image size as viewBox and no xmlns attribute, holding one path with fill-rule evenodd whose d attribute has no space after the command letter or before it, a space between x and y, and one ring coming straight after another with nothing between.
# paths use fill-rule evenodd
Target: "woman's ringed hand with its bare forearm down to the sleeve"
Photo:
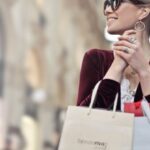
<instances>
[{"instance_id":1,"label":"woman's ringed hand with its bare forearm down to the sleeve","mask_svg":"<svg viewBox=\"0 0 150 150\"><path fill-rule=\"evenodd\" d=\"M116 55L124 59L138 74L143 95L150 94L150 65L148 51L146 54L143 44L142 32L136 34L122 35L114 44ZM150 57L150 56L149 56Z\"/></svg>"}]
</instances>

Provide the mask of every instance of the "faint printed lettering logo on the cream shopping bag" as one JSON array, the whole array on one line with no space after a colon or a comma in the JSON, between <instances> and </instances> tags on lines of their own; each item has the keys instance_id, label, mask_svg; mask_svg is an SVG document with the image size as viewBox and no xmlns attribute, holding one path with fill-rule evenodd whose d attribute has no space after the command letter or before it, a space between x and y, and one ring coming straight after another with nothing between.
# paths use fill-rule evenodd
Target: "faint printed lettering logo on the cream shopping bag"
<instances>
[{"instance_id":1,"label":"faint printed lettering logo on the cream shopping bag","mask_svg":"<svg viewBox=\"0 0 150 150\"><path fill-rule=\"evenodd\" d=\"M89 145L92 146L95 150L106 150L107 149L107 143L101 142L101 141L92 141L92 140L86 140L86 139L78 139L78 144L81 145Z\"/></svg>"}]
</instances>

